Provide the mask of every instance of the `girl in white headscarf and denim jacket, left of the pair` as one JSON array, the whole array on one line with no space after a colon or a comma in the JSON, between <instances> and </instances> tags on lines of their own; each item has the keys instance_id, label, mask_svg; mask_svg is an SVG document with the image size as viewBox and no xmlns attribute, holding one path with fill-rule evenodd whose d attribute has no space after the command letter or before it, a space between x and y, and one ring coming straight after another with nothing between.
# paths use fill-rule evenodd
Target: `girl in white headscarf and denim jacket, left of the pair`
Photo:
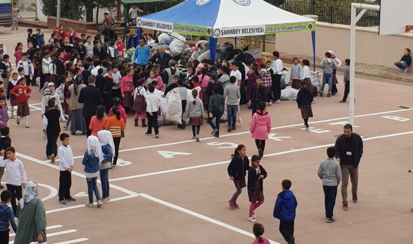
<instances>
[{"instance_id":1,"label":"girl in white headscarf and denim jacket, left of the pair","mask_svg":"<svg viewBox=\"0 0 413 244\"><path fill-rule=\"evenodd\" d=\"M102 153L99 139L97 139L96 136L89 136L88 149L85 151L82 160L82 164L85 165L85 176L88 184L89 202L85 204L87 207L93 207L93 192L96 196L97 207L102 205L99 190L96 185L97 177L99 176L100 163L102 161L104 161L104 155Z\"/></svg>"}]
</instances>

